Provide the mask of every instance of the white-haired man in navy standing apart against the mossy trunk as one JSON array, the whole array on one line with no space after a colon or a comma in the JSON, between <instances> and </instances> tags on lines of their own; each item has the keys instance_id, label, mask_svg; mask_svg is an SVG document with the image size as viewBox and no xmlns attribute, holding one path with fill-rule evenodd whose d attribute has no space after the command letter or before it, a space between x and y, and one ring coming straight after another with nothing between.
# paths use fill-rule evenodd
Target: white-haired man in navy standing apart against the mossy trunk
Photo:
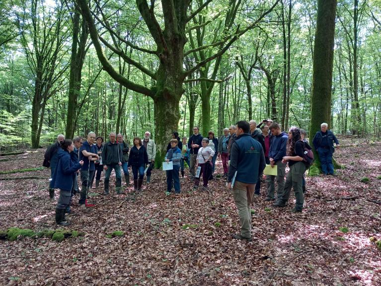
<instances>
[{"instance_id":1,"label":"white-haired man in navy standing apart against the mossy trunk","mask_svg":"<svg viewBox=\"0 0 381 286\"><path fill-rule=\"evenodd\" d=\"M333 142L336 143L336 148L340 147L339 141L331 130L328 130L327 123L321 123L320 131L317 131L313 137L312 144L315 147L321 163L321 171L324 175L333 175L332 155L335 152Z\"/></svg>"}]
</instances>

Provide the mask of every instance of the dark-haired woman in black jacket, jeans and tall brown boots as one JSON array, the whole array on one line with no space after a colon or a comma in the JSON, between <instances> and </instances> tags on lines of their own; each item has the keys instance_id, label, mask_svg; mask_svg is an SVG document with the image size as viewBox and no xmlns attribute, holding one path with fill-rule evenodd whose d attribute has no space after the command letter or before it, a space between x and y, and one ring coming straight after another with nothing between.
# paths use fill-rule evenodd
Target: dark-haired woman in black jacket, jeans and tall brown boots
<instances>
[{"instance_id":1,"label":"dark-haired woman in black jacket, jeans and tall brown boots","mask_svg":"<svg viewBox=\"0 0 381 286\"><path fill-rule=\"evenodd\" d=\"M128 158L128 167L132 168L134 175L134 191L142 191L144 168L147 164L149 164L147 150L142 144L142 139L135 137L134 146L131 148Z\"/></svg>"}]
</instances>

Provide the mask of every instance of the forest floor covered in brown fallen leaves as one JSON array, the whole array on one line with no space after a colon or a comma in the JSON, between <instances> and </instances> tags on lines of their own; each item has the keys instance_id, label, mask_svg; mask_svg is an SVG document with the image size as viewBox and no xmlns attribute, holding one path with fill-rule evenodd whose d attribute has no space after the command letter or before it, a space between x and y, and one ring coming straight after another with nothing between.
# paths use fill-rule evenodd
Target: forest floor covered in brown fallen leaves
<instances>
[{"instance_id":1,"label":"forest floor covered in brown fallen leaves","mask_svg":"<svg viewBox=\"0 0 381 286\"><path fill-rule=\"evenodd\" d=\"M0 240L0 285L380 286L381 250L371 237L381 239L381 143L358 143L341 142L334 157L347 168L337 177L306 177L302 214L289 212L293 196L285 208L271 207L262 184L249 243L230 238L239 232L238 214L219 179L202 192L186 178L180 195L167 195L164 172L156 170L133 196L116 195L113 177L110 195L91 190L94 208L80 210L75 197L72 225L63 228L55 225L58 191L50 200L49 169L0 175L40 177L0 180L0 230L84 232L62 242ZM0 171L40 167L44 151L1 156ZM114 231L124 235L106 236Z\"/></svg>"}]
</instances>

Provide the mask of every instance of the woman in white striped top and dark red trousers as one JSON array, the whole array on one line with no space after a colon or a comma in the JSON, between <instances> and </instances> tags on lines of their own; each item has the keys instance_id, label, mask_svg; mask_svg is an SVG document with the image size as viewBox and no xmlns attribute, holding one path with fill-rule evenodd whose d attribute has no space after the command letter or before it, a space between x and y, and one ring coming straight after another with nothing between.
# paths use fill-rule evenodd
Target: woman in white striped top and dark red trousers
<instances>
[{"instance_id":1,"label":"woman in white striped top and dark red trousers","mask_svg":"<svg viewBox=\"0 0 381 286\"><path fill-rule=\"evenodd\" d=\"M212 175L212 158L214 156L214 151L208 146L209 139L203 138L201 140L202 147L198 150L196 159L196 168L201 167L200 176L195 178L193 189L197 189L200 185L200 177L202 174L203 187L208 188L208 181Z\"/></svg>"}]
</instances>

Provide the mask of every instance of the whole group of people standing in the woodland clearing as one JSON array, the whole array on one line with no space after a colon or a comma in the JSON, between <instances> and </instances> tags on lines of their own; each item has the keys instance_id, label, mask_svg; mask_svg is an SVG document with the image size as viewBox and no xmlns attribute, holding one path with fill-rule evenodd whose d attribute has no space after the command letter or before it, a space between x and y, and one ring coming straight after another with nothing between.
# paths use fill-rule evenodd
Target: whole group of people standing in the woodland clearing
<instances>
[{"instance_id":1,"label":"whole group of people standing in the woodland clearing","mask_svg":"<svg viewBox=\"0 0 381 286\"><path fill-rule=\"evenodd\" d=\"M200 179L203 179L202 190L207 190L208 182L215 172L216 159L221 158L227 188L232 189L234 201L238 209L241 231L233 234L235 239L251 241L250 205L254 196L260 194L260 184L263 170L267 165L277 168L277 175L267 175L267 192L265 201L276 200L274 207L284 207L294 188L296 204L293 212L302 212L305 192L305 150L311 149L305 140L306 132L298 127L291 127L289 132L282 132L280 125L270 119L256 124L254 120L238 121L235 125L223 130L224 134L216 138L213 131L208 137L203 137L199 128L193 128L193 135L187 140L181 140L178 133L172 133L165 162L172 162L172 169L166 171L167 192L174 189L180 193L179 174L184 177L184 162L189 166L189 175L193 182L193 190L197 190ZM110 133L109 141L103 143L102 137L95 137L90 132L87 140L76 137L65 140L65 136L57 136L57 142L52 144L45 153L45 160L50 163L52 181L50 197L54 197L54 189L60 189L60 197L56 207L56 223L67 225L65 213L70 212L73 195L78 192L77 171L80 170L82 188L79 205L84 206L87 192L92 186L95 173L95 186L99 186L100 174L105 170L104 194L109 193L109 178L115 171L117 193L121 190L121 169L123 169L126 184L130 184L129 168L134 177L134 191L141 191L144 174L147 183L151 182L156 146L150 138L151 133L145 132L142 140L133 139L130 148L122 134ZM321 169L325 175L334 175L332 154L334 145L339 142L333 132L328 130L328 124L322 123L321 130L316 132L312 141L319 154ZM286 165L290 171L286 176ZM285 180L286 176L286 180ZM275 182L277 182L277 197L275 197Z\"/></svg>"}]
</instances>

